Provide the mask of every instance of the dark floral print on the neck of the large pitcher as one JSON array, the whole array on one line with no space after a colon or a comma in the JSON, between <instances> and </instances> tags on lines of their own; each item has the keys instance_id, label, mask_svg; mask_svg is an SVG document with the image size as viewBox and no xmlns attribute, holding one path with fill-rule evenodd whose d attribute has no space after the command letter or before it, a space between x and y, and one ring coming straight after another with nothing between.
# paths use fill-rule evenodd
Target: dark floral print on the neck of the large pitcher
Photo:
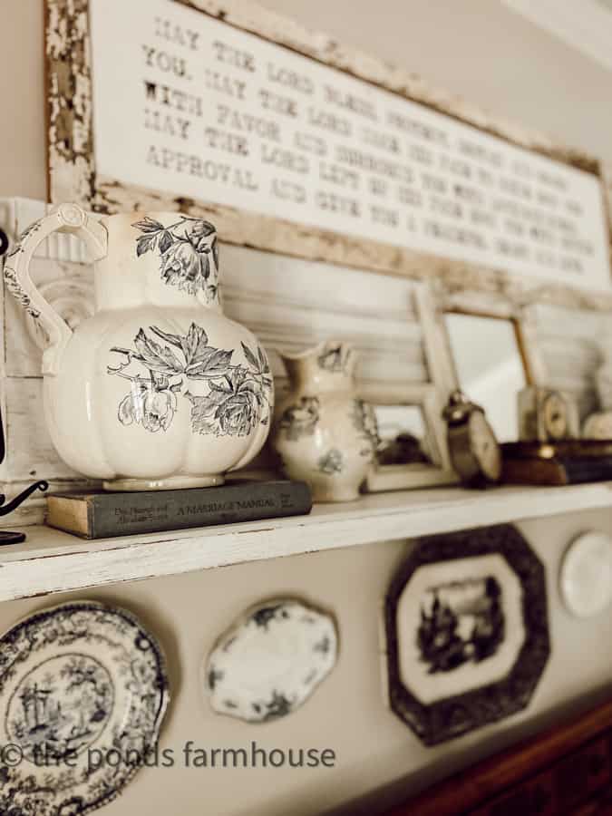
<instances>
[{"instance_id":1,"label":"dark floral print on the neck of the large pitcher","mask_svg":"<svg viewBox=\"0 0 612 816\"><path fill-rule=\"evenodd\" d=\"M217 300L219 248L217 232L209 221L183 217L164 227L146 216L131 226L141 231L136 239L136 255L158 252L165 283L189 295L201 290L208 303Z\"/></svg>"}]
</instances>

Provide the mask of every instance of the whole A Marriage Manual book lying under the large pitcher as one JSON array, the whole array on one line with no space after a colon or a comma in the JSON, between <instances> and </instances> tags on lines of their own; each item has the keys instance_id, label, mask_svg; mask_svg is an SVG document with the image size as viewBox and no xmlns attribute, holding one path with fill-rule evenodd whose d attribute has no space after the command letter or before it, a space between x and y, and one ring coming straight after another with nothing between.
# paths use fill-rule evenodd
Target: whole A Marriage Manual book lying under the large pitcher
<instances>
[{"instance_id":1,"label":"whole A Marriage Manual book lying under the large pitcher","mask_svg":"<svg viewBox=\"0 0 612 816\"><path fill-rule=\"evenodd\" d=\"M304 481L237 481L185 491L50 493L47 524L84 539L300 516L312 509Z\"/></svg>"}]
</instances>

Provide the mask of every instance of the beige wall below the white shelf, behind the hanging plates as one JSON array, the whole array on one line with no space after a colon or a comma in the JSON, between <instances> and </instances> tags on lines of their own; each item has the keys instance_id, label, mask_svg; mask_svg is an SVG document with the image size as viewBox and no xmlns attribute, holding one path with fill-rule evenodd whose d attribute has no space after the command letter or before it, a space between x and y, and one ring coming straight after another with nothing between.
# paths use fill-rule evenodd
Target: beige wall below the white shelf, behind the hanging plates
<instances>
[{"instance_id":1,"label":"beige wall below the white shelf, behind the hanging plates","mask_svg":"<svg viewBox=\"0 0 612 816\"><path fill-rule=\"evenodd\" d=\"M376 792L346 816L383 811L393 797L434 781L542 724L567 716L605 694L612 679L612 614L586 621L561 607L559 560L568 541L597 528L612 532L608 511L529 521L520 529L547 567L552 656L529 709L497 725L424 748L387 710L381 691L380 602L410 545L384 542L292 559L253 563L130 587L58 597L93 597L129 607L160 637L170 662L173 702L161 745L180 759L188 740L211 749L331 748L334 770L146 769L104 812L108 816L180 813L181 816L314 816ZM407 532L409 532L407 530ZM213 714L199 682L200 662L244 607L284 593L306 597L335 613L341 654L335 672L295 714L276 723L244 725ZM0 605L0 630L44 599Z\"/></svg>"}]
</instances>

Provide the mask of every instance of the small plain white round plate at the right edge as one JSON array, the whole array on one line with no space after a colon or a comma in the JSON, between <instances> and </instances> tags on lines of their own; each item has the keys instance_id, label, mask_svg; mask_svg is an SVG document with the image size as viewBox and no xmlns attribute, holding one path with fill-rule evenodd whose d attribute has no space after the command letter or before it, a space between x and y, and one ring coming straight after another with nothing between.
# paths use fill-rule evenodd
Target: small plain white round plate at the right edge
<instances>
[{"instance_id":1,"label":"small plain white round plate at the right edge","mask_svg":"<svg viewBox=\"0 0 612 816\"><path fill-rule=\"evenodd\" d=\"M571 544L563 557L561 596L578 617L602 612L612 600L612 539L588 532Z\"/></svg>"}]
</instances>

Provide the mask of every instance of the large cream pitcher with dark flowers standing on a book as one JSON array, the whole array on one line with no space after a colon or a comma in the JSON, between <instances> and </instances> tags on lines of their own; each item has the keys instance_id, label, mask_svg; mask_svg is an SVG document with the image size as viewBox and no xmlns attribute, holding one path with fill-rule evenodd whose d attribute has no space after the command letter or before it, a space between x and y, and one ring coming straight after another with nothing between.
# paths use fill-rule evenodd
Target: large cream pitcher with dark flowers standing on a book
<instances>
[{"instance_id":1,"label":"large cream pitcher with dark flowers standing on a book","mask_svg":"<svg viewBox=\"0 0 612 816\"><path fill-rule=\"evenodd\" d=\"M28 267L54 231L95 260L95 314L72 330ZM223 316L215 228L176 212L92 219L64 204L26 229L5 281L46 337L44 410L55 448L107 490L220 484L261 449L273 384L267 356Z\"/></svg>"}]
</instances>

